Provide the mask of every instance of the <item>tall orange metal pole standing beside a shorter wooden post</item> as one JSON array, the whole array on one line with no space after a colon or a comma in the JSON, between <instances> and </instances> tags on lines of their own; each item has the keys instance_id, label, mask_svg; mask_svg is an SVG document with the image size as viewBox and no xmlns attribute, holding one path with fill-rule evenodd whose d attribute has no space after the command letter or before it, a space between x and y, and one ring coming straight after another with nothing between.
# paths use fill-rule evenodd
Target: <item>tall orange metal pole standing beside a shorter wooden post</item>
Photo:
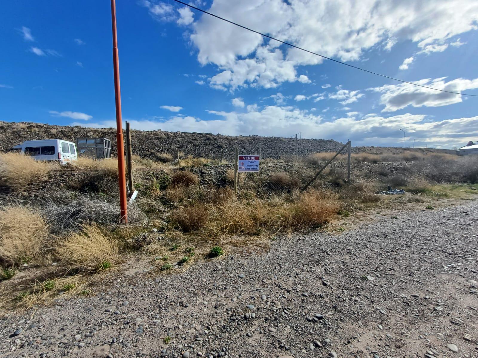
<instances>
[{"instance_id":1,"label":"tall orange metal pole standing beside a shorter wooden post","mask_svg":"<svg viewBox=\"0 0 478 358\"><path fill-rule=\"evenodd\" d=\"M113 71L115 78L116 102L116 146L118 147L118 176L120 185L120 220L128 222L128 207L126 203L126 174L124 163L123 123L121 120L120 63L118 62L118 39L116 35L116 4L111 0L111 25L113 30Z\"/></svg>"}]
</instances>

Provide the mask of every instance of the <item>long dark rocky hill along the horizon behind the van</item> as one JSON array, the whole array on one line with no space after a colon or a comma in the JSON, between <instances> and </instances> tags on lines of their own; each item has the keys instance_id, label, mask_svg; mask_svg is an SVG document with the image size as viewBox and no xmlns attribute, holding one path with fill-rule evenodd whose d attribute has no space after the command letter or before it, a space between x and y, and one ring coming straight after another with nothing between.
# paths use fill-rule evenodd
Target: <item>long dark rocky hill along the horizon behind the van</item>
<instances>
[{"instance_id":1,"label":"long dark rocky hill along the horizon behind the van","mask_svg":"<svg viewBox=\"0 0 478 358\"><path fill-rule=\"evenodd\" d=\"M77 137L105 137L111 140L112 152L116 155L115 128L85 128L80 126L54 126L32 122L0 121L0 151L22 143L25 140L60 138L75 141ZM154 158L155 153L170 153L177 150L186 156L224 159L234 157L234 147L241 154L259 154L262 158L280 158L295 155L295 139L282 137L239 136L230 137L206 133L131 131L133 155ZM342 143L328 139L300 139L298 154L303 157L315 152L333 152Z\"/></svg>"}]
</instances>

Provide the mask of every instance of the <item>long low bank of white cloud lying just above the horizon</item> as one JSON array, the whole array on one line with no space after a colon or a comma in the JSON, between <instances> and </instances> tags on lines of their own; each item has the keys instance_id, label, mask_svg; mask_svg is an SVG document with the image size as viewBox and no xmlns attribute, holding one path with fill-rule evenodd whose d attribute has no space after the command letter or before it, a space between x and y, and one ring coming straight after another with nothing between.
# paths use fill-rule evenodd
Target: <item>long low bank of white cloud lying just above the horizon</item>
<instances>
[{"instance_id":1,"label":"long low bank of white cloud lying just above the horizon","mask_svg":"<svg viewBox=\"0 0 478 358\"><path fill-rule=\"evenodd\" d=\"M290 133L307 133L308 138L335 138L345 142L348 138L354 146L397 146L402 141L399 128L407 128L407 137L429 147L452 147L465 143L469 137L478 136L478 116L431 121L424 115L404 114L399 116L377 116L368 114L358 117L349 113L347 117L324 120L305 110L289 106L266 106L262 110L250 108L247 113L208 111L220 119L201 120L186 116L173 116L159 120L128 120L131 127L142 130L222 133L225 135L262 135L288 137ZM115 126L115 120L88 123L92 127ZM75 122L71 125L81 123ZM346 129L344 129L346 128ZM473 128L470 132L470 128Z\"/></svg>"}]
</instances>

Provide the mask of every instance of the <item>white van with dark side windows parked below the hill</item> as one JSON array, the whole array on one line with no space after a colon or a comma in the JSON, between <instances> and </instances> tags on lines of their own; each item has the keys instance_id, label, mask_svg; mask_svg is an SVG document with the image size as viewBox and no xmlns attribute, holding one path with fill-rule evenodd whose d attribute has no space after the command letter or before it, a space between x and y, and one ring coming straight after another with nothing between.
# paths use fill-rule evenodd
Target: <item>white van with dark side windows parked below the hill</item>
<instances>
[{"instance_id":1,"label":"white van with dark side windows parked below the hill","mask_svg":"<svg viewBox=\"0 0 478 358\"><path fill-rule=\"evenodd\" d=\"M78 160L75 143L62 139L26 140L8 151L21 152L34 160L56 160L61 164Z\"/></svg>"}]
</instances>

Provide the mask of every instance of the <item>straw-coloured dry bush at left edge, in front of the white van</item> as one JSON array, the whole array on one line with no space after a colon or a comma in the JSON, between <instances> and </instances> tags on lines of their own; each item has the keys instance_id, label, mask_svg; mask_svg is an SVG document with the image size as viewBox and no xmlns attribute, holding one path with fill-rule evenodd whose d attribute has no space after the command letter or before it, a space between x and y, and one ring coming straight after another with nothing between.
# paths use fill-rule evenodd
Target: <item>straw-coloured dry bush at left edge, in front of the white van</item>
<instances>
[{"instance_id":1,"label":"straw-coloured dry bush at left edge, in front of the white van","mask_svg":"<svg viewBox=\"0 0 478 358\"><path fill-rule=\"evenodd\" d=\"M50 163L19 153L0 153L0 185L22 190L50 171Z\"/></svg>"}]
</instances>

